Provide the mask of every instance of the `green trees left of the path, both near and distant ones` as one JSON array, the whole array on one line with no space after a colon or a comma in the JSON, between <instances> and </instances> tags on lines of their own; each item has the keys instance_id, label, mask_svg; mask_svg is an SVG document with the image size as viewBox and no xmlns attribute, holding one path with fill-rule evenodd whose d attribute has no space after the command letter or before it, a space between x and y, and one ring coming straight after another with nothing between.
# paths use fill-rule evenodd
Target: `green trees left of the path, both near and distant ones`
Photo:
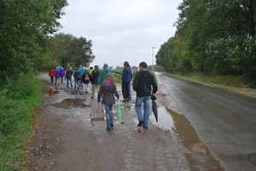
<instances>
[{"instance_id":1,"label":"green trees left of the path, both near and distant ones","mask_svg":"<svg viewBox=\"0 0 256 171\"><path fill-rule=\"evenodd\" d=\"M92 42L57 33L67 0L1 0L0 83L49 67L90 64Z\"/></svg>"}]
</instances>

